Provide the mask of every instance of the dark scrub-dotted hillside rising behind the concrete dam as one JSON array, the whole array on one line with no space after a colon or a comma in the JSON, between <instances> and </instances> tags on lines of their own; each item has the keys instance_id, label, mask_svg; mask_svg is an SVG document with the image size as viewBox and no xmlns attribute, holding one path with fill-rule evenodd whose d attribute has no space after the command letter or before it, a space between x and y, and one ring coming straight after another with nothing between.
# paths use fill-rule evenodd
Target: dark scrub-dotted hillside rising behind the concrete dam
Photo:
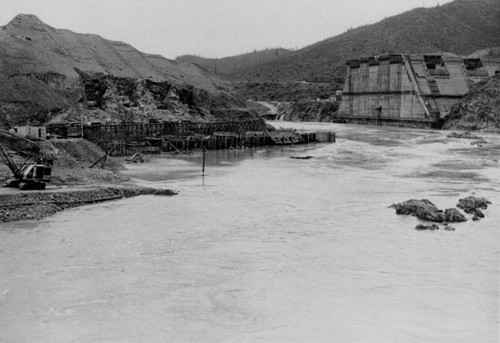
<instances>
[{"instance_id":1,"label":"dark scrub-dotted hillside rising behind the concrete dam","mask_svg":"<svg viewBox=\"0 0 500 343\"><path fill-rule=\"evenodd\" d=\"M499 46L499 32L498 0L456 0L416 8L224 76L239 81L335 82L343 77L348 59L401 52L468 55Z\"/></svg>"}]
</instances>

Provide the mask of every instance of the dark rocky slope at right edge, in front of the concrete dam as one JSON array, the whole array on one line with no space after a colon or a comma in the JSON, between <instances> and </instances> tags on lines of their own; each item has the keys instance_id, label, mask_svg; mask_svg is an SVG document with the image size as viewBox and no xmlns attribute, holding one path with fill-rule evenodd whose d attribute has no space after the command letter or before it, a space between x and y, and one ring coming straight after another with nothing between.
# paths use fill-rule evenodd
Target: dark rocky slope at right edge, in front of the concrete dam
<instances>
[{"instance_id":1,"label":"dark rocky slope at right edge, in front of the concrete dam","mask_svg":"<svg viewBox=\"0 0 500 343\"><path fill-rule=\"evenodd\" d=\"M500 132L500 75L478 84L446 119L448 130Z\"/></svg>"}]
</instances>

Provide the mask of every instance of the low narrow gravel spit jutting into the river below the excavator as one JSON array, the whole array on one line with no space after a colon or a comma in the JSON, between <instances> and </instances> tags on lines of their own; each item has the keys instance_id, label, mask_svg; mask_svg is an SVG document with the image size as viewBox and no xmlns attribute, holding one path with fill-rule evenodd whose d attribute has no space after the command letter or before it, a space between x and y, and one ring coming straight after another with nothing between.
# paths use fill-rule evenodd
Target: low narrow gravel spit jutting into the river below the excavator
<instances>
[{"instance_id":1,"label":"low narrow gravel spit jutting into the river below the excavator","mask_svg":"<svg viewBox=\"0 0 500 343\"><path fill-rule=\"evenodd\" d=\"M63 191L0 194L0 222L38 220L67 208L139 195L171 196L175 194L169 189L137 186L102 186L76 190L67 188Z\"/></svg>"}]
</instances>

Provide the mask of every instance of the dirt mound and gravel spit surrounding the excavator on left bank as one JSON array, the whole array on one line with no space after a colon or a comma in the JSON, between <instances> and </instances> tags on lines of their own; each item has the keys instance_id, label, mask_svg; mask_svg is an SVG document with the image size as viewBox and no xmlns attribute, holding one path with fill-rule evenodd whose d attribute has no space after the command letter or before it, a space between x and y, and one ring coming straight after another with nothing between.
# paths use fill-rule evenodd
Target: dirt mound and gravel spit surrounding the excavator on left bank
<instances>
[{"instance_id":1,"label":"dirt mound and gravel spit surrounding the excavator on left bank","mask_svg":"<svg viewBox=\"0 0 500 343\"><path fill-rule=\"evenodd\" d=\"M41 141L37 145L43 155L54 161L49 189L0 192L0 222L40 219L66 208L138 195L175 194L171 190L124 185L129 178L120 174L123 165L118 159L107 157L102 164L91 168L105 153L85 139ZM18 162L22 161L21 156L15 157ZM0 177L5 180L12 177L3 164L0 165ZM60 188L54 189L54 185ZM82 189L82 186L91 188Z\"/></svg>"}]
</instances>

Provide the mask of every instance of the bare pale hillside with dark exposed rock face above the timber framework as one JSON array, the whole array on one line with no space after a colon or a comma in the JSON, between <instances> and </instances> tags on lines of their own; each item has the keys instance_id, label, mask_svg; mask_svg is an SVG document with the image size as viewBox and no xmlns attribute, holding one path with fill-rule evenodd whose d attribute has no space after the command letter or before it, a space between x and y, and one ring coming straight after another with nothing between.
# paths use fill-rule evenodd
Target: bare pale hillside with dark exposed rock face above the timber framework
<instances>
[{"instance_id":1,"label":"bare pale hillside with dark exposed rock face above the timber framework","mask_svg":"<svg viewBox=\"0 0 500 343\"><path fill-rule=\"evenodd\" d=\"M18 15L0 27L4 124L209 121L217 116L254 114L225 82L193 64L55 29L33 15Z\"/></svg>"}]
</instances>

